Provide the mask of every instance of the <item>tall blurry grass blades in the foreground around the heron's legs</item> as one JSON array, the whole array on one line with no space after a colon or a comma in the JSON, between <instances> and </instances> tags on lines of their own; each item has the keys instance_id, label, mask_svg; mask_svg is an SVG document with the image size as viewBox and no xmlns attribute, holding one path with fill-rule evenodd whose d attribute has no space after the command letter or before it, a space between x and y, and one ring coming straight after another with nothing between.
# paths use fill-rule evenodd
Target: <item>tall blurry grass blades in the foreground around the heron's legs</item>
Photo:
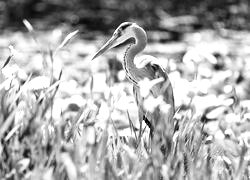
<instances>
[{"instance_id":1,"label":"tall blurry grass blades in the foreground around the heron's legs","mask_svg":"<svg viewBox=\"0 0 250 180\"><path fill-rule=\"evenodd\" d=\"M34 40L33 27L24 22ZM241 133L235 137L219 127L223 138L205 131L207 116L196 116L197 105L190 101L176 112L175 126L164 124L158 117L159 127L166 131L155 133L154 138L167 145L166 156L160 144L149 145L148 129L145 127L141 143L137 146L138 132L130 118L131 132L121 136L112 119L115 111L115 95L108 92L93 92L92 78L89 94L83 94L85 103L68 104L59 118L53 115L56 101L62 97L60 85L63 70L54 75L53 59L68 41L76 35L70 33L58 48L41 48L40 53L48 56L43 83L40 77L28 75L22 79L18 69L5 76L11 66L12 54L0 71L0 178L9 179L248 179L249 145ZM49 49L44 52L44 49ZM46 61L47 58L44 59ZM111 84L109 73L107 84ZM40 79L39 79L40 78ZM31 83L33 82L33 83ZM38 87L34 87L34 82ZM193 94L193 97L198 96ZM103 106L106 116L100 116ZM231 111L243 116L240 104ZM103 119L100 120L100 117ZM104 122L103 126L99 121ZM243 121L243 118L242 118ZM171 129L168 129L171 128ZM235 130L237 131L237 130ZM169 133L171 132L171 133ZM219 136L220 137L220 136Z\"/></svg>"}]
</instances>

